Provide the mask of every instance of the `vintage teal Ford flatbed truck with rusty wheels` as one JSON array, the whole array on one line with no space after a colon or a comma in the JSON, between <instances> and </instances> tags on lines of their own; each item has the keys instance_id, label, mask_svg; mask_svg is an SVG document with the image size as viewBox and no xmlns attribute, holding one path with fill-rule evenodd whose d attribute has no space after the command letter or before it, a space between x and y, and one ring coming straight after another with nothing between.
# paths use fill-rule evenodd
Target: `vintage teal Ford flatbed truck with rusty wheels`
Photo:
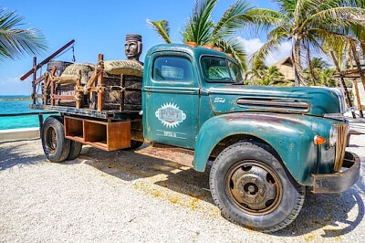
<instances>
[{"instance_id":1,"label":"vintage teal Ford flatbed truck with rusty wheels","mask_svg":"<svg viewBox=\"0 0 365 243\"><path fill-rule=\"evenodd\" d=\"M306 188L339 193L360 176L359 157L345 151L349 124L339 90L246 86L234 58L169 44L149 50L140 86L133 79L140 106L123 106L131 78L121 73L120 106L111 110L101 106L108 95L102 58L98 67L90 93L75 84L75 102L83 103L65 105L66 96L43 92L41 108L59 112L41 132L52 162L75 159L82 144L110 151L150 143L136 153L210 170L222 215L264 232L295 220ZM90 105L95 99L101 108Z\"/></svg>"}]
</instances>

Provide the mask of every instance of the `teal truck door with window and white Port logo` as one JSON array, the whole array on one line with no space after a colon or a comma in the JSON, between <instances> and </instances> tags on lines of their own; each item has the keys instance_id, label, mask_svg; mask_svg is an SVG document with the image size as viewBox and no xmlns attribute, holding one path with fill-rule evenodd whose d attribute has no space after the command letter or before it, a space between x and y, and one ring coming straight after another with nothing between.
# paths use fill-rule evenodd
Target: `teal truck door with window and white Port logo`
<instances>
[{"instance_id":1,"label":"teal truck door with window and white Port logo","mask_svg":"<svg viewBox=\"0 0 365 243\"><path fill-rule=\"evenodd\" d=\"M185 54L154 54L144 76L143 134L155 143L192 148L198 131L199 82Z\"/></svg>"}]
</instances>

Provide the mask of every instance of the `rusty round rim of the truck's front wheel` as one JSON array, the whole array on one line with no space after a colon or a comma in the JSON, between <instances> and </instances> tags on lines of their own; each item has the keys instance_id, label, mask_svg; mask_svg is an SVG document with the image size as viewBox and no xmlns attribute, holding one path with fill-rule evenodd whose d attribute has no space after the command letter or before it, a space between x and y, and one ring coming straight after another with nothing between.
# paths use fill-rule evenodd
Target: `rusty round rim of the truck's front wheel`
<instances>
[{"instance_id":1,"label":"rusty round rim of the truck's front wheel","mask_svg":"<svg viewBox=\"0 0 365 243\"><path fill-rule=\"evenodd\" d=\"M269 214L281 202L283 186L278 175L258 161L235 164L229 169L225 182L231 201L248 214Z\"/></svg>"}]
</instances>

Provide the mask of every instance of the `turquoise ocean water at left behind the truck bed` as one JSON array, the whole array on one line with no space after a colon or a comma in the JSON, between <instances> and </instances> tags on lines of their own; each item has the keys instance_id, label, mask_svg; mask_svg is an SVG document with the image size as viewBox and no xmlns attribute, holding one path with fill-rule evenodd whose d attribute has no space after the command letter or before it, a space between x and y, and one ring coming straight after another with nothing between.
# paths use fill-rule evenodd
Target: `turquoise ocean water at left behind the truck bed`
<instances>
[{"instance_id":1,"label":"turquoise ocean water at left behind the truck bed","mask_svg":"<svg viewBox=\"0 0 365 243\"><path fill-rule=\"evenodd\" d=\"M29 109L32 103L29 95L0 95L0 114L27 113L39 110ZM0 130L39 127L37 115L16 117L0 116Z\"/></svg>"}]
</instances>

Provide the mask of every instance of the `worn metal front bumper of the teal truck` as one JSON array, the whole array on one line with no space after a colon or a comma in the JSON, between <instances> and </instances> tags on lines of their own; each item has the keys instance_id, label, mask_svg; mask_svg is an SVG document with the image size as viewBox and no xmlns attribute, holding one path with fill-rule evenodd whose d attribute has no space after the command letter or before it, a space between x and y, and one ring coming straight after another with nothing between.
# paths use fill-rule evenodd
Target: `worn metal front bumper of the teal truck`
<instances>
[{"instance_id":1,"label":"worn metal front bumper of the teal truck","mask_svg":"<svg viewBox=\"0 0 365 243\"><path fill-rule=\"evenodd\" d=\"M345 153L342 167L347 170L334 174L312 174L313 193L329 194L346 191L354 185L360 176L360 158L355 153Z\"/></svg>"}]
</instances>

